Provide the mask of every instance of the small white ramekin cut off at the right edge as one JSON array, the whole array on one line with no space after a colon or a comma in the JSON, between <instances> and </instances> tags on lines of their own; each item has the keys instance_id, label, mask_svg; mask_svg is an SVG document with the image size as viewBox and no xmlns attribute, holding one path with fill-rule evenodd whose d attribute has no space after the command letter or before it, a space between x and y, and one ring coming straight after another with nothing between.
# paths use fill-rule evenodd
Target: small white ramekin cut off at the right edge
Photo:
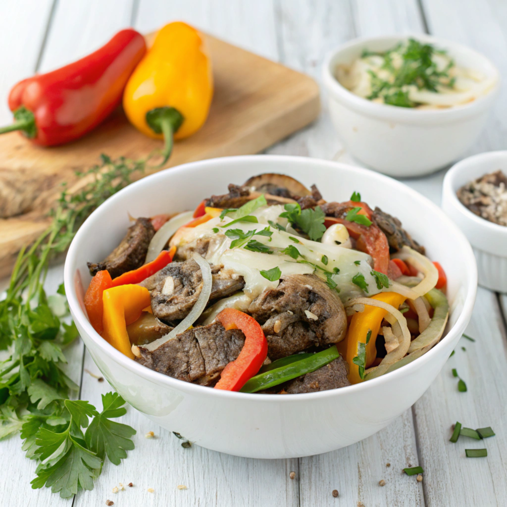
<instances>
[{"instance_id":1,"label":"small white ramekin cut off at the right edge","mask_svg":"<svg viewBox=\"0 0 507 507\"><path fill-rule=\"evenodd\" d=\"M479 284L492 291L507 292L507 227L477 216L456 196L466 183L498 169L507 172L507 151L481 153L453 165L444 178L442 207L472 244Z\"/></svg>"}]
</instances>

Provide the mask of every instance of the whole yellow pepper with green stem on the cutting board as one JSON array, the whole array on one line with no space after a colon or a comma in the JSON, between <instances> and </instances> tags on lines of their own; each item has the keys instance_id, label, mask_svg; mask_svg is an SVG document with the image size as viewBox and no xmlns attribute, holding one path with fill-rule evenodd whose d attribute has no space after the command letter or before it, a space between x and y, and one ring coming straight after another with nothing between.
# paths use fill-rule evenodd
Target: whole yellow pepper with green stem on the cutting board
<instances>
[{"instance_id":1,"label":"whole yellow pepper with green stem on the cutting board","mask_svg":"<svg viewBox=\"0 0 507 507\"><path fill-rule=\"evenodd\" d=\"M158 31L128 80L123 108L140 132L165 138L165 162L173 138L183 139L202 127L212 96L211 61L204 39L195 28L178 21Z\"/></svg>"}]
</instances>

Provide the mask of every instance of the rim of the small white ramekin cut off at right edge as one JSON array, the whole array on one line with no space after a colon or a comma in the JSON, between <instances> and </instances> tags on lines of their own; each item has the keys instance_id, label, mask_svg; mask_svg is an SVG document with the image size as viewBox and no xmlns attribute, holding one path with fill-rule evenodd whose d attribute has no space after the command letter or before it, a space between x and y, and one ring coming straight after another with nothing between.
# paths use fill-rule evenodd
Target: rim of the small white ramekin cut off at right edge
<instances>
[{"instance_id":1,"label":"rim of the small white ramekin cut off at right edge","mask_svg":"<svg viewBox=\"0 0 507 507\"><path fill-rule=\"evenodd\" d=\"M459 162L456 162L446 173L444 176L443 183L443 197L448 200L454 208L459 211L466 220L474 222L479 227L483 227L487 229L490 234L502 234L503 236L507 236L507 227L499 224L495 224L494 222L490 222L489 220L483 219L481 216L477 216L475 213L470 211L459 199L456 195L455 189L455 178L459 174L460 170L463 166L480 164L483 161L489 159L503 157L505 158L505 162L507 165L507 150L498 150L494 152L484 152L478 153L477 155L472 155L470 157L466 157ZM487 174L485 172L484 174ZM477 176L480 177L480 176ZM476 179L476 178L474 178Z\"/></svg>"}]
</instances>

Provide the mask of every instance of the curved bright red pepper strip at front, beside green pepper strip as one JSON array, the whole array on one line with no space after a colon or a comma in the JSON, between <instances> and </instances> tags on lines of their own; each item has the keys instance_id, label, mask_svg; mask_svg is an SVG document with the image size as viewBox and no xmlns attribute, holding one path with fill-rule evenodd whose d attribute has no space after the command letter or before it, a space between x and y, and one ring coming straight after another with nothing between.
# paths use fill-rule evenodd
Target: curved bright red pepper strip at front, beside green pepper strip
<instances>
[{"instance_id":1,"label":"curved bright red pepper strip at front, beside green pepper strip","mask_svg":"<svg viewBox=\"0 0 507 507\"><path fill-rule=\"evenodd\" d=\"M240 329L245 335L245 344L236 360L231 361L224 370L215 389L239 391L248 379L256 375L268 355L268 341L261 325L246 313L225 308L216 319L226 331Z\"/></svg>"}]
</instances>

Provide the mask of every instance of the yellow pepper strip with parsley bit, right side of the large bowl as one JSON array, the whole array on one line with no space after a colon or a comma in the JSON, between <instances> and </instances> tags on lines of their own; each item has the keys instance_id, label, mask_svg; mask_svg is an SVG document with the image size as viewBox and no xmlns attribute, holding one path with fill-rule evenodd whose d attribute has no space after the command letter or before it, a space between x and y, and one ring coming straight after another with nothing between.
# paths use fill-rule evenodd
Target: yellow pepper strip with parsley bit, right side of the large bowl
<instances>
[{"instance_id":1,"label":"yellow pepper strip with parsley bit, right side of the large bowl","mask_svg":"<svg viewBox=\"0 0 507 507\"><path fill-rule=\"evenodd\" d=\"M404 301L405 297L396 294L395 292L381 292L372 296L370 299L376 299L377 301L383 301L388 305L398 308ZM363 382L363 379L359 376L359 367L353 363L353 359L357 356L357 344L359 342L366 343L366 338L371 330L372 334L370 340L366 344L366 368L369 368L375 358L377 357L377 348L375 347L375 340L380 329L382 319L386 316L387 311L378 306L365 305L365 311L356 313L350 321L346 341L346 360L349 365L349 376L348 379L351 384L357 384ZM341 344L339 344L341 345ZM342 345L342 347L344 347Z\"/></svg>"}]
</instances>

